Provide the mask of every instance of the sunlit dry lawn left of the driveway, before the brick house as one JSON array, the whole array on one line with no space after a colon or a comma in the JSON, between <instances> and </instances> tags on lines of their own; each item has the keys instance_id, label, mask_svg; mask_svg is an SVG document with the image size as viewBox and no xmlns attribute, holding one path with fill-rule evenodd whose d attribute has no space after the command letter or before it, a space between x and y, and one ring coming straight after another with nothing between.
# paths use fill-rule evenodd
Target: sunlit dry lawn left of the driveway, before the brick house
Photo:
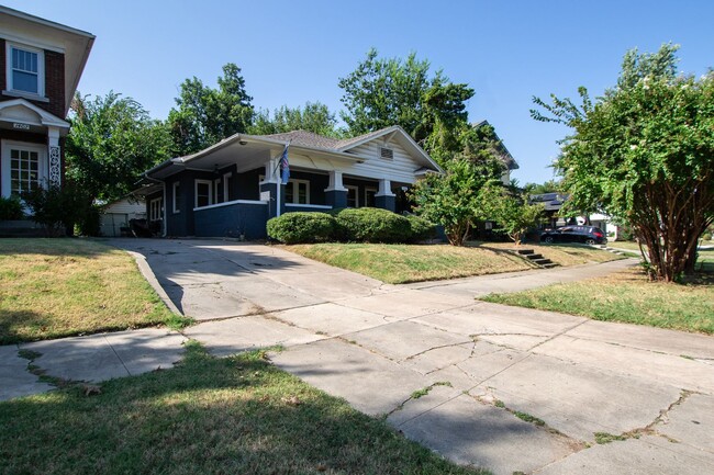
<instances>
[{"instance_id":1,"label":"sunlit dry lawn left of the driveway, before the brick house","mask_svg":"<svg viewBox=\"0 0 714 475\"><path fill-rule=\"evenodd\" d=\"M124 251L87 239L0 239L0 344L182 321Z\"/></svg>"}]
</instances>

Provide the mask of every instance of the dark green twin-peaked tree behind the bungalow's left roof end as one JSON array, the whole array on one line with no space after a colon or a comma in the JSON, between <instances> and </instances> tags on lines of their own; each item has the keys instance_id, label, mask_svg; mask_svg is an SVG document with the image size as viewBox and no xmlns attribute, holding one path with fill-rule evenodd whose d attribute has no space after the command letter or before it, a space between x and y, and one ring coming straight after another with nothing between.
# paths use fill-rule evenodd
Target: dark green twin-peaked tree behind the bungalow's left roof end
<instances>
[{"instance_id":1,"label":"dark green twin-peaked tree behind the bungalow's left roof end","mask_svg":"<svg viewBox=\"0 0 714 475\"><path fill-rule=\"evenodd\" d=\"M253 123L253 98L246 92L241 68L233 63L223 66L217 84L217 89L209 88L196 76L181 83L177 108L168 115L175 154L197 152L246 132Z\"/></svg>"}]
</instances>

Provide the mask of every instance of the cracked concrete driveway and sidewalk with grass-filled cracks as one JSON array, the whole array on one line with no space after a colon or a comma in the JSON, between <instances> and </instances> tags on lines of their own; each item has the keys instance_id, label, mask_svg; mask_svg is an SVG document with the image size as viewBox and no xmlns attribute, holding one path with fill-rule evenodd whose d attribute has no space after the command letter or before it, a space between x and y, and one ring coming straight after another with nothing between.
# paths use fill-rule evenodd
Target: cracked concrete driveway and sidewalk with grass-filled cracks
<instances>
[{"instance_id":1,"label":"cracked concrete driveway and sidewalk with grass-filled cracks","mask_svg":"<svg viewBox=\"0 0 714 475\"><path fill-rule=\"evenodd\" d=\"M714 338L473 301L627 261L397 286L258 245L113 244L145 256L177 307L207 321L185 336L140 330L21 346L43 353L34 364L49 374L99 381L167 367L183 338L217 355L281 344L272 354L280 367L387 415L458 463L507 475L714 473ZM18 374L16 351L0 348L0 397ZM88 367L97 365L112 370ZM33 378L25 391L46 389ZM596 433L626 440L598 444Z\"/></svg>"}]
</instances>

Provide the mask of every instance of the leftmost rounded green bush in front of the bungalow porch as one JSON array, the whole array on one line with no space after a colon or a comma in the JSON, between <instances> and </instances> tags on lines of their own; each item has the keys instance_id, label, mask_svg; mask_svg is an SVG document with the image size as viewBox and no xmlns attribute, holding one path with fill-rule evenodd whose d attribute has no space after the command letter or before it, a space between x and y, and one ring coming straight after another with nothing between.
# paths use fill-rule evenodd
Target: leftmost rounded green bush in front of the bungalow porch
<instances>
[{"instance_id":1,"label":"leftmost rounded green bush in front of the bungalow porch","mask_svg":"<svg viewBox=\"0 0 714 475\"><path fill-rule=\"evenodd\" d=\"M320 242L332 240L335 218L327 213L286 213L268 220L268 236L280 242Z\"/></svg>"}]
</instances>

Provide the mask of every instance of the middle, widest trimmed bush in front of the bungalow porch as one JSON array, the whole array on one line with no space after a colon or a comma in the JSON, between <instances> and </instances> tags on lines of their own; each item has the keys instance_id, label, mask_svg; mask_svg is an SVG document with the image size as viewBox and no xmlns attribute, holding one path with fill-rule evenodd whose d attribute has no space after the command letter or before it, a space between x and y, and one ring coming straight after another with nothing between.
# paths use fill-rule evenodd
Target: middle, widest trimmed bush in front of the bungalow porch
<instances>
[{"instance_id":1,"label":"middle, widest trimmed bush in front of the bungalow porch","mask_svg":"<svg viewBox=\"0 0 714 475\"><path fill-rule=\"evenodd\" d=\"M377 207L345 208L336 218L343 239L364 242L406 242L412 230L409 219Z\"/></svg>"}]
</instances>

